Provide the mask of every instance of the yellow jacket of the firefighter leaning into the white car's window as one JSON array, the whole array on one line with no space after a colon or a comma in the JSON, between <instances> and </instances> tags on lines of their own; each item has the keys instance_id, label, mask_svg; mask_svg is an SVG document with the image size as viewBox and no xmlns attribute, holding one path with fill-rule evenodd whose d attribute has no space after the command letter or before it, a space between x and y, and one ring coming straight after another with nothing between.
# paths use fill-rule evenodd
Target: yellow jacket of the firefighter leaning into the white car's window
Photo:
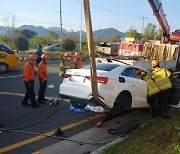
<instances>
[{"instance_id":1,"label":"yellow jacket of the firefighter leaning into the white car's window","mask_svg":"<svg viewBox=\"0 0 180 154\"><path fill-rule=\"evenodd\" d=\"M146 82L147 84L147 96L151 96L151 95L154 95L158 92L160 92L160 89L159 87L157 86L157 84L149 77L145 76L143 78L143 80Z\"/></svg>"}]
</instances>

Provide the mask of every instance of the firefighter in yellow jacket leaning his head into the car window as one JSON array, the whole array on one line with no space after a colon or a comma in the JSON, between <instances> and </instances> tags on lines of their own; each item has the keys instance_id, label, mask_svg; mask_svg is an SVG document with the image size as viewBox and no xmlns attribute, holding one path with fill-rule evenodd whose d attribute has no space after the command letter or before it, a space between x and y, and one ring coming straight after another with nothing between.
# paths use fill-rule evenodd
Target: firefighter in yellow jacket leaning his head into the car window
<instances>
[{"instance_id":1,"label":"firefighter in yellow jacket leaning his head into the car window","mask_svg":"<svg viewBox=\"0 0 180 154\"><path fill-rule=\"evenodd\" d=\"M158 116L158 108L156 105L157 98L160 93L160 89L158 85L153 81L150 75L147 75L144 72L140 72L140 78L144 80L147 84L147 100L151 107L151 116L157 117Z\"/></svg>"}]
</instances>

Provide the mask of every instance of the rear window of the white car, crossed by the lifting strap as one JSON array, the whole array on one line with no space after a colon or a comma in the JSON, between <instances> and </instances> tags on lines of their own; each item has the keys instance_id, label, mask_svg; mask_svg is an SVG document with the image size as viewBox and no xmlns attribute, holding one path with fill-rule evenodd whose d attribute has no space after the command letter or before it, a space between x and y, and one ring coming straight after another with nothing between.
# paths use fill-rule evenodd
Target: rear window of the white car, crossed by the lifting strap
<instances>
[{"instance_id":1,"label":"rear window of the white car, crossed by the lifting strap","mask_svg":"<svg viewBox=\"0 0 180 154\"><path fill-rule=\"evenodd\" d=\"M108 64L108 63L101 63L96 65L96 70L102 70L102 71L112 71L116 67L118 67L118 64ZM90 69L90 65L84 67L84 69Z\"/></svg>"}]
</instances>

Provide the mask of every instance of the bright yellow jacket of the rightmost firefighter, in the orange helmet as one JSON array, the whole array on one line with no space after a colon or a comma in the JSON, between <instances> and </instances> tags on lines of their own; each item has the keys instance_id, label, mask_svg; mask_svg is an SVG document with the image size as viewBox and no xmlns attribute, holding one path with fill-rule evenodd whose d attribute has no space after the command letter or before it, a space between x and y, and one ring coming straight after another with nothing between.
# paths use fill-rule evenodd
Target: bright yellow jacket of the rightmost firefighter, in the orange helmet
<instances>
[{"instance_id":1,"label":"bright yellow jacket of the rightmost firefighter, in the orange helmet","mask_svg":"<svg viewBox=\"0 0 180 154\"><path fill-rule=\"evenodd\" d=\"M154 80L161 91L172 88L172 84L169 79L171 73L168 70L164 68L156 67L155 70L153 71L153 75L154 75Z\"/></svg>"}]
</instances>

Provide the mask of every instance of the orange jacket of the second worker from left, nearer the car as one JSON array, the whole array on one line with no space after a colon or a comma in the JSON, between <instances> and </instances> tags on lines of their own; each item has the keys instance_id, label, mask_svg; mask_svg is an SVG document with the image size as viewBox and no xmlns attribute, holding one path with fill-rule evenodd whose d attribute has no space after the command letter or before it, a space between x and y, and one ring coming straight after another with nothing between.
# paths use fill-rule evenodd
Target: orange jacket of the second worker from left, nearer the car
<instances>
[{"instance_id":1,"label":"orange jacket of the second worker from left, nearer the car","mask_svg":"<svg viewBox=\"0 0 180 154\"><path fill-rule=\"evenodd\" d=\"M48 79L47 67L43 60L38 64L38 78L43 80Z\"/></svg>"}]
</instances>

